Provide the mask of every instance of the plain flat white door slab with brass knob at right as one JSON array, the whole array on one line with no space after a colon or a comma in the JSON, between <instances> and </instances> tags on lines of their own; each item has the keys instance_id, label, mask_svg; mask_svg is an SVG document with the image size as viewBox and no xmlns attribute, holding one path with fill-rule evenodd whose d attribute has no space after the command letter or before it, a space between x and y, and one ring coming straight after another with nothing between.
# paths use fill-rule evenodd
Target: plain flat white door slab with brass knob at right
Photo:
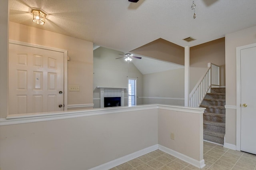
<instances>
[{"instance_id":1,"label":"plain flat white door slab with brass knob at right","mask_svg":"<svg viewBox=\"0 0 256 170\"><path fill-rule=\"evenodd\" d=\"M256 47L241 49L241 150L256 154Z\"/></svg>"}]
</instances>

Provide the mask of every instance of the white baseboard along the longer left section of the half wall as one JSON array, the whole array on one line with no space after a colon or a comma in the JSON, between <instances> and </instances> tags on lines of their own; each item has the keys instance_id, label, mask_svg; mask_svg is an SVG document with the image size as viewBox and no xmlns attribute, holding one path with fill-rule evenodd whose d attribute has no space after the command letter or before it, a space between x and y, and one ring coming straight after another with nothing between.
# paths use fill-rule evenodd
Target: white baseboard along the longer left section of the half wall
<instances>
[{"instance_id":1,"label":"white baseboard along the longer left section of the half wall","mask_svg":"<svg viewBox=\"0 0 256 170\"><path fill-rule=\"evenodd\" d=\"M137 152L128 154L128 155L123 156L121 158L117 158L117 159L112 160L110 162L107 162L105 164L101 164L101 165L96 166L94 168L91 168L89 170L108 170L108 169L114 168L115 166L123 164L125 162L128 162L132 159L138 158L138 157L140 157L144 154L148 154L149 152L153 152L154 150L157 150L157 149L158 149L158 144L150 146L150 147L142 149L142 150L139 150Z\"/></svg>"}]
</instances>

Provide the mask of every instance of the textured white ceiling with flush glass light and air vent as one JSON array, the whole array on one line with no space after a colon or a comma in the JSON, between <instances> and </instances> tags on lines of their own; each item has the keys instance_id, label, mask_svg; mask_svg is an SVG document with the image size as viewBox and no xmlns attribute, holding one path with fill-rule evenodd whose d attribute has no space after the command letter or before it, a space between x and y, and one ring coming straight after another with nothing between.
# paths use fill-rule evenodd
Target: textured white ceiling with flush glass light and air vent
<instances>
[{"instance_id":1,"label":"textured white ceiling with flush glass light and air vent","mask_svg":"<svg viewBox=\"0 0 256 170\"><path fill-rule=\"evenodd\" d=\"M34 26L123 51L162 38L194 46L256 25L256 0L9 0L12 22ZM46 14L32 22L31 9ZM196 40L185 42L191 36Z\"/></svg>"}]
</instances>

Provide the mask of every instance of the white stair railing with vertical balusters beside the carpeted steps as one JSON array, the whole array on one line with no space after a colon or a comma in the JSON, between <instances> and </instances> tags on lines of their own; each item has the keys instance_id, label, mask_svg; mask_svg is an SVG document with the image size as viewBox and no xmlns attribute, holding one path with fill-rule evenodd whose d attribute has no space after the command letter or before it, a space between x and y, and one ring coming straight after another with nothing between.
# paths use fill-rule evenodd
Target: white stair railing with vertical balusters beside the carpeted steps
<instances>
[{"instance_id":1,"label":"white stair railing with vertical balusters beside the carpeted steps","mask_svg":"<svg viewBox=\"0 0 256 170\"><path fill-rule=\"evenodd\" d=\"M199 107L211 86L220 86L220 66L208 63L206 74L198 81L189 95L189 106Z\"/></svg>"}]
</instances>

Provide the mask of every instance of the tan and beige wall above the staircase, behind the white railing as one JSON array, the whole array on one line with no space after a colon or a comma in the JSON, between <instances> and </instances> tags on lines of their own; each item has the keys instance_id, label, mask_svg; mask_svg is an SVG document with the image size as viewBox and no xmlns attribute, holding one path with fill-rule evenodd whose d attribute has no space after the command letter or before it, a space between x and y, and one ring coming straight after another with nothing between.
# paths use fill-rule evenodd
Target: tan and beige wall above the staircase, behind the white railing
<instances>
[{"instance_id":1,"label":"tan and beige wall above the staircase, behind the white railing","mask_svg":"<svg viewBox=\"0 0 256 170\"><path fill-rule=\"evenodd\" d=\"M225 38L190 47L190 91L206 73L207 63L220 66L220 85L225 86Z\"/></svg>"}]
</instances>

